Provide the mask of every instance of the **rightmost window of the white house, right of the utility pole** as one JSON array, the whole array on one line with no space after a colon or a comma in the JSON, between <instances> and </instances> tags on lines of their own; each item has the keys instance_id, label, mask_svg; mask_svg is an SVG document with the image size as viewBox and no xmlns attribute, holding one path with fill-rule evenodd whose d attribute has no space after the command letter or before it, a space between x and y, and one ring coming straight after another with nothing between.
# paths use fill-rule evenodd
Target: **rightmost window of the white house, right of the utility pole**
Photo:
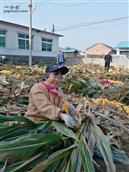
<instances>
[{"instance_id":1,"label":"rightmost window of the white house, right of the utility pole","mask_svg":"<svg viewBox=\"0 0 129 172\"><path fill-rule=\"evenodd\" d=\"M52 51L52 39L42 38L42 51Z\"/></svg>"}]
</instances>

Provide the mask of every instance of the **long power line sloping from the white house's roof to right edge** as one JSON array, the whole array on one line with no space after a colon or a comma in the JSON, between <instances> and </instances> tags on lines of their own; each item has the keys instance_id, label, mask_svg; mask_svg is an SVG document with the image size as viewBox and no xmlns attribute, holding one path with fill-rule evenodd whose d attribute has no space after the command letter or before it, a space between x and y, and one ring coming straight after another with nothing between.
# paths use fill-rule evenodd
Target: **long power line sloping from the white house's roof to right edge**
<instances>
[{"instance_id":1,"label":"long power line sloping from the white house's roof to right edge","mask_svg":"<svg viewBox=\"0 0 129 172\"><path fill-rule=\"evenodd\" d=\"M67 26L67 27L64 27L64 28L56 29L55 31L76 29L76 28L79 28L79 27L87 27L87 26L98 25L98 24L103 24L103 23L115 22L115 21L120 21L120 20L124 20L124 19L128 19L128 18L129 18L129 16L113 18L113 19L106 19L106 20L102 20L102 21L89 22L89 23L80 23L80 24L71 25L71 26Z\"/></svg>"}]
</instances>

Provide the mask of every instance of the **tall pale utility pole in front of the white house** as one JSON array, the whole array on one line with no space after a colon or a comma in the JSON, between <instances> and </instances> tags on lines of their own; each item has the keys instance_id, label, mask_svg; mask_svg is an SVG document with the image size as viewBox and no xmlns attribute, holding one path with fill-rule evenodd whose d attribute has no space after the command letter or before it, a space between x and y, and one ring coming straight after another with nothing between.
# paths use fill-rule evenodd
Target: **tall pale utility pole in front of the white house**
<instances>
[{"instance_id":1,"label":"tall pale utility pole in front of the white house","mask_svg":"<svg viewBox=\"0 0 129 172\"><path fill-rule=\"evenodd\" d=\"M32 66L32 0L29 0L29 66Z\"/></svg>"}]
</instances>

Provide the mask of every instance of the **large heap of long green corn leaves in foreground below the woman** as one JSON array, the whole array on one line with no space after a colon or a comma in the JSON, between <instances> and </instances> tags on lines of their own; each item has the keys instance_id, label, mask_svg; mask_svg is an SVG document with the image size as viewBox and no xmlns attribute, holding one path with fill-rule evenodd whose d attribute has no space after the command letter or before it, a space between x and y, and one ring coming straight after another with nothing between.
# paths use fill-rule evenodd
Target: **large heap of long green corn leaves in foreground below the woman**
<instances>
[{"instance_id":1,"label":"large heap of long green corn leaves in foreground below the woman","mask_svg":"<svg viewBox=\"0 0 129 172\"><path fill-rule=\"evenodd\" d=\"M8 125L8 122L17 121ZM62 122L34 123L20 116L0 115L0 168L3 172L95 172L95 152L108 172L115 172L109 138L87 119L78 131ZM18 123L24 124L18 125ZM129 164L115 151L115 159ZM120 159L120 158L121 159Z\"/></svg>"}]
</instances>

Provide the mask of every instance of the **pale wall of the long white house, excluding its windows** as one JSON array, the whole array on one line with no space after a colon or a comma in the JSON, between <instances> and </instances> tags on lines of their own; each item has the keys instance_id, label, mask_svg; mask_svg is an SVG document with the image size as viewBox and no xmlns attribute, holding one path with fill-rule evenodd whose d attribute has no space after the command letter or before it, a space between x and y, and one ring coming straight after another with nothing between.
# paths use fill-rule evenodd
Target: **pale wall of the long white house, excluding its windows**
<instances>
[{"instance_id":1,"label":"pale wall of the long white house, excluding its windows","mask_svg":"<svg viewBox=\"0 0 129 172\"><path fill-rule=\"evenodd\" d=\"M6 30L6 48L0 48L0 55L11 55L11 56L28 56L29 50L18 49L18 33L28 34L28 29L20 26L13 26L10 24L1 24L1 29ZM33 50L32 56L37 57L56 57L58 54L59 47L59 36L36 32L32 30L33 35ZM53 40L52 52L41 51L41 38L50 38Z\"/></svg>"}]
</instances>

